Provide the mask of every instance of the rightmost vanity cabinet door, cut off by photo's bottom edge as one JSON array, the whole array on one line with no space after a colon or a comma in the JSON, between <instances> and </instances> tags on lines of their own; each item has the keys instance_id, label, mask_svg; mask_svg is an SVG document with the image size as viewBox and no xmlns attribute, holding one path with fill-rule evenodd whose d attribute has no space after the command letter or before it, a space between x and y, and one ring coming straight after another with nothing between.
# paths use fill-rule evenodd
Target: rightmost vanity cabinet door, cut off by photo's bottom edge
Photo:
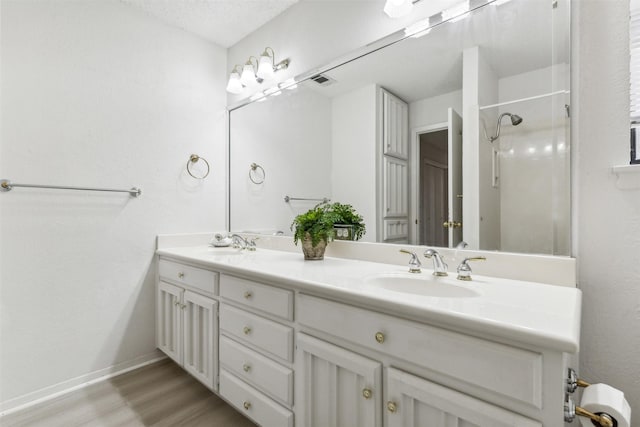
<instances>
[{"instance_id":1,"label":"rightmost vanity cabinet door, cut off by photo's bottom edge","mask_svg":"<svg viewBox=\"0 0 640 427\"><path fill-rule=\"evenodd\" d=\"M498 406L394 368L387 369L387 427L542 427Z\"/></svg>"}]
</instances>

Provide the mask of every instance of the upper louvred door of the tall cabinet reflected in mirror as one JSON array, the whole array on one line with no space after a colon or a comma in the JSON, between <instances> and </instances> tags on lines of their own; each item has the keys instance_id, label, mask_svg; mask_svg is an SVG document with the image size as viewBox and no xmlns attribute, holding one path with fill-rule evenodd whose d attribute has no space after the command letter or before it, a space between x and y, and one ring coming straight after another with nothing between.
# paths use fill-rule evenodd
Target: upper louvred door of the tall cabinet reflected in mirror
<instances>
[{"instance_id":1,"label":"upper louvred door of the tall cabinet reflected in mirror","mask_svg":"<svg viewBox=\"0 0 640 427\"><path fill-rule=\"evenodd\" d=\"M409 106L385 90L382 90L382 143L385 155L409 157Z\"/></svg>"}]
</instances>

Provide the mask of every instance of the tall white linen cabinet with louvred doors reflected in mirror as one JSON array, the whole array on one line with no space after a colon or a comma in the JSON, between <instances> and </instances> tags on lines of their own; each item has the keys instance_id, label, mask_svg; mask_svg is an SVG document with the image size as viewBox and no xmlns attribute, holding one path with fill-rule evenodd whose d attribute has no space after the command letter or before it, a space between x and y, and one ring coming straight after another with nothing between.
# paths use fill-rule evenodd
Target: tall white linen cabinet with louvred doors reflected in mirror
<instances>
[{"instance_id":1,"label":"tall white linen cabinet with louvred doors reflected in mirror","mask_svg":"<svg viewBox=\"0 0 640 427\"><path fill-rule=\"evenodd\" d=\"M378 99L383 175L379 227L383 241L401 243L409 237L409 106L382 88Z\"/></svg>"}]
</instances>

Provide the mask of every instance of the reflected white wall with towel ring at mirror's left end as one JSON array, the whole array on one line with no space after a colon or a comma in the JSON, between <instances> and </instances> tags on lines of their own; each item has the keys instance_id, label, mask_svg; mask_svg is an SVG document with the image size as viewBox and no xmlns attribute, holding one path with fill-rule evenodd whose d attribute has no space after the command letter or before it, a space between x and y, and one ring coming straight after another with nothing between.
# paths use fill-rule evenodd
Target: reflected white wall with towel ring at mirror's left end
<instances>
[{"instance_id":1,"label":"reflected white wall with towel ring at mirror's left end","mask_svg":"<svg viewBox=\"0 0 640 427\"><path fill-rule=\"evenodd\" d=\"M292 234L295 216L318 202L285 203L285 195L332 197L331 100L303 87L285 90L232 111L231 121L231 230ZM264 169L264 183L249 179L251 163Z\"/></svg>"}]
</instances>

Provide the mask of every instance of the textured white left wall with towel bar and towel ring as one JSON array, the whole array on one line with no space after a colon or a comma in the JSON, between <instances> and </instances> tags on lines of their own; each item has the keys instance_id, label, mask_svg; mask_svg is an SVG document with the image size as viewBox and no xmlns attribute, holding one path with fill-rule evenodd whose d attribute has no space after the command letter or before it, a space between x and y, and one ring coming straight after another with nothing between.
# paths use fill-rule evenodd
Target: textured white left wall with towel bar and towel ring
<instances>
[{"instance_id":1,"label":"textured white left wall with towel bar and towel ring","mask_svg":"<svg viewBox=\"0 0 640 427\"><path fill-rule=\"evenodd\" d=\"M0 194L6 404L153 354L155 236L224 228L226 59L118 1L1 8L2 178L143 189Z\"/></svg>"}]
</instances>

